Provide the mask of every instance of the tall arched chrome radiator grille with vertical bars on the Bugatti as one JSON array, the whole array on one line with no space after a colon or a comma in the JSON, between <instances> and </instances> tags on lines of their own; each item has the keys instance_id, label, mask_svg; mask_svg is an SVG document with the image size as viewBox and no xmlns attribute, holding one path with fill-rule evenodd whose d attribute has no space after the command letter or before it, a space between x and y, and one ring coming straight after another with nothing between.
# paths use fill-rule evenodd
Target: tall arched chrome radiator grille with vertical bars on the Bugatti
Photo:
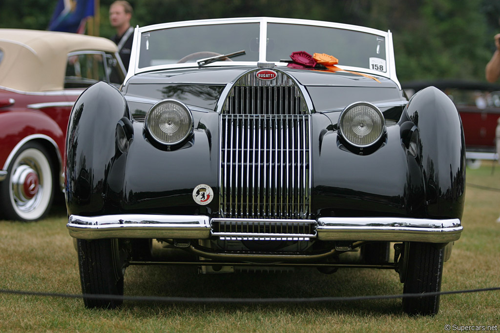
<instances>
[{"instance_id":1,"label":"tall arched chrome radiator grille with vertical bars on the Bugatti","mask_svg":"<svg viewBox=\"0 0 500 333\"><path fill-rule=\"evenodd\" d=\"M221 112L220 216L308 219L309 112L284 74L259 81L243 76Z\"/></svg>"}]
</instances>

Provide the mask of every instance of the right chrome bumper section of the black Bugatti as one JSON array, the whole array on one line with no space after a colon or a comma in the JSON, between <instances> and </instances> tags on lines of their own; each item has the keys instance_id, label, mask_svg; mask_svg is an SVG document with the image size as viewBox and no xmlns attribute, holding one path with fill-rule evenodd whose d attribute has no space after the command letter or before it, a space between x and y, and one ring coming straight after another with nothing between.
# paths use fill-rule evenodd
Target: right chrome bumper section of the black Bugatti
<instances>
[{"instance_id":1,"label":"right chrome bumper section of the black Bugatti","mask_svg":"<svg viewBox=\"0 0 500 333\"><path fill-rule=\"evenodd\" d=\"M387 241L449 243L460 238L459 219L411 218L319 218L317 238L321 241Z\"/></svg>"}]
</instances>

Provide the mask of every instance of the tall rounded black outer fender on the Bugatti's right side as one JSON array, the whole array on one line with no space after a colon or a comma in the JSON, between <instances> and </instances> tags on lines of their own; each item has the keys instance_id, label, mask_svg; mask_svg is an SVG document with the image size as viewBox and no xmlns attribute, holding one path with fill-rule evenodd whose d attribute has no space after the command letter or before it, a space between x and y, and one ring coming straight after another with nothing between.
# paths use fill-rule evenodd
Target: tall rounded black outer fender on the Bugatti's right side
<instances>
[{"instance_id":1,"label":"tall rounded black outer fender on the Bugatti's right side","mask_svg":"<svg viewBox=\"0 0 500 333\"><path fill-rule=\"evenodd\" d=\"M465 143L460 116L439 89L417 92L404 109L419 132L419 159L429 217L461 218L465 196Z\"/></svg>"}]
</instances>

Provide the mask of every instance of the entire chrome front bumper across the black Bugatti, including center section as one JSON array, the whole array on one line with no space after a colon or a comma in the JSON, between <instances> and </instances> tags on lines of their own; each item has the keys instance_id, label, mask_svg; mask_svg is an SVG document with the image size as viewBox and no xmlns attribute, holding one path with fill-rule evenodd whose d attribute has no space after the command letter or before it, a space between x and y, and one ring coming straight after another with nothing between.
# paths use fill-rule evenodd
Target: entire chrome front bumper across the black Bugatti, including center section
<instances>
[{"instance_id":1,"label":"entire chrome front bumper across the black Bugatti, including center section","mask_svg":"<svg viewBox=\"0 0 500 333\"><path fill-rule=\"evenodd\" d=\"M212 222L239 223L311 223L311 234L226 233L214 234ZM155 238L155 239L290 239L320 241L386 241L449 243L460 238L459 219L351 218L332 217L316 220L239 220L210 219L202 215L126 214L106 216L71 215L66 225L69 235L77 239Z\"/></svg>"}]
</instances>

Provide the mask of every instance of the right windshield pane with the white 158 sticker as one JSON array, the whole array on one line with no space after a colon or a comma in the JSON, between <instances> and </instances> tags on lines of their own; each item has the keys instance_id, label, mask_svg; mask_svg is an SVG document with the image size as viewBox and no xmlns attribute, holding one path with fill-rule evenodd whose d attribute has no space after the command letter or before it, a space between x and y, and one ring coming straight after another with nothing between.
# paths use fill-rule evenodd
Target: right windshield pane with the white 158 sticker
<instances>
[{"instance_id":1,"label":"right windshield pane with the white 158 sticker","mask_svg":"<svg viewBox=\"0 0 500 333\"><path fill-rule=\"evenodd\" d=\"M339 65L386 72L385 38L323 26L268 23L267 61L290 59L291 52L326 53Z\"/></svg>"}]
</instances>

